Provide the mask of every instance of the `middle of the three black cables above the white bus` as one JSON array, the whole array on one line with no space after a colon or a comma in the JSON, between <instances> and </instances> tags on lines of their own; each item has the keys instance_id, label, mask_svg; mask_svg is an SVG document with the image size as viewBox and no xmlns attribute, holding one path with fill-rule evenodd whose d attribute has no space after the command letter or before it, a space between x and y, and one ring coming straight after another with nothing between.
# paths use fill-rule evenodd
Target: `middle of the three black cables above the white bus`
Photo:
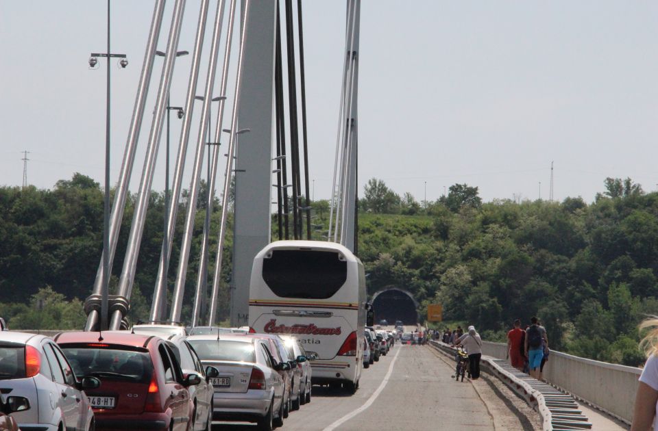
<instances>
[{"instance_id":1,"label":"middle of the three black cables above the white bus","mask_svg":"<svg viewBox=\"0 0 658 431\"><path fill-rule=\"evenodd\" d=\"M295 32L293 25L293 1L286 0L288 109L290 118L290 153L293 162L293 233L295 239L300 239L300 138L299 125L297 123L297 80L295 79Z\"/></svg>"}]
</instances>

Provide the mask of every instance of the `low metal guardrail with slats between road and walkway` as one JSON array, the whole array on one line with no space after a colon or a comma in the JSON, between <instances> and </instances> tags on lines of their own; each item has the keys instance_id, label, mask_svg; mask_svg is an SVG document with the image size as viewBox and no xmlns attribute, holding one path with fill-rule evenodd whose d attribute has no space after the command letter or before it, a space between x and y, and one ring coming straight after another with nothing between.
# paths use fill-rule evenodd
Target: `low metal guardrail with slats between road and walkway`
<instances>
[{"instance_id":1,"label":"low metal guardrail with slats between road and walkway","mask_svg":"<svg viewBox=\"0 0 658 431\"><path fill-rule=\"evenodd\" d=\"M430 341L430 345L454 358L454 348L449 345L439 341ZM502 359L483 355L480 367L507 384L529 406L535 408L541 415L544 431L592 429L592 423L578 409L572 395L518 371Z\"/></svg>"}]
</instances>

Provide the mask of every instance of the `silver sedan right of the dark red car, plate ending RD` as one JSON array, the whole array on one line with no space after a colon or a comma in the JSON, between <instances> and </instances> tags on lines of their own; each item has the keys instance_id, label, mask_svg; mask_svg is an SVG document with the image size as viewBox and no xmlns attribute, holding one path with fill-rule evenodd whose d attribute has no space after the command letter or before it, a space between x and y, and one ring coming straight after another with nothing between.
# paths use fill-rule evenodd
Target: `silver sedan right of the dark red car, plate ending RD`
<instances>
[{"instance_id":1,"label":"silver sedan right of the dark red car, plate ending RD","mask_svg":"<svg viewBox=\"0 0 658 431\"><path fill-rule=\"evenodd\" d=\"M283 379L268 343L242 335L191 335L188 343L204 365L219 370L212 378L215 388L212 419L257 422L260 430L283 424Z\"/></svg>"}]
</instances>

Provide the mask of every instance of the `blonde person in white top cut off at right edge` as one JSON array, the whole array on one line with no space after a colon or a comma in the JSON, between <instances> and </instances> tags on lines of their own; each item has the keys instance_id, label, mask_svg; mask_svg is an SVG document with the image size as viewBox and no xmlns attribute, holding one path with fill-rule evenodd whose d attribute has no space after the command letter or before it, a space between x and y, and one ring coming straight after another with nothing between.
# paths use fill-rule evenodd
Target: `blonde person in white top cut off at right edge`
<instances>
[{"instance_id":1,"label":"blonde person in white top cut off at right edge","mask_svg":"<svg viewBox=\"0 0 658 431\"><path fill-rule=\"evenodd\" d=\"M639 325L640 330L652 328L639 342L646 355L646 363L639 376L635 393L635 407L631 431L658 430L658 317L646 319Z\"/></svg>"}]
</instances>

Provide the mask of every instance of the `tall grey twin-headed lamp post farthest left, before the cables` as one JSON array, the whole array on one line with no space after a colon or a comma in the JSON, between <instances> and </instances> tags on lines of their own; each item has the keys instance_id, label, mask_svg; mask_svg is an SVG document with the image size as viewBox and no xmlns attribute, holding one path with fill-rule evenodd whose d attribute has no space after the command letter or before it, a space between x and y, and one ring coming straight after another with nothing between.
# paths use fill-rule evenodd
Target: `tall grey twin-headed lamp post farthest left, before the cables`
<instances>
[{"instance_id":1,"label":"tall grey twin-headed lamp post farthest left, before the cables","mask_svg":"<svg viewBox=\"0 0 658 431\"><path fill-rule=\"evenodd\" d=\"M106 53L91 53L89 66L94 68L98 57L108 59L108 76L106 86L106 119L105 119L105 198L103 205L103 280L101 281L101 322L99 329L108 328L108 285L110 283L110 58L121 58L121 68L128 65L125 54L110 53L110 0L108 0L108 49Z\"/></svg>"}]
</instances>

